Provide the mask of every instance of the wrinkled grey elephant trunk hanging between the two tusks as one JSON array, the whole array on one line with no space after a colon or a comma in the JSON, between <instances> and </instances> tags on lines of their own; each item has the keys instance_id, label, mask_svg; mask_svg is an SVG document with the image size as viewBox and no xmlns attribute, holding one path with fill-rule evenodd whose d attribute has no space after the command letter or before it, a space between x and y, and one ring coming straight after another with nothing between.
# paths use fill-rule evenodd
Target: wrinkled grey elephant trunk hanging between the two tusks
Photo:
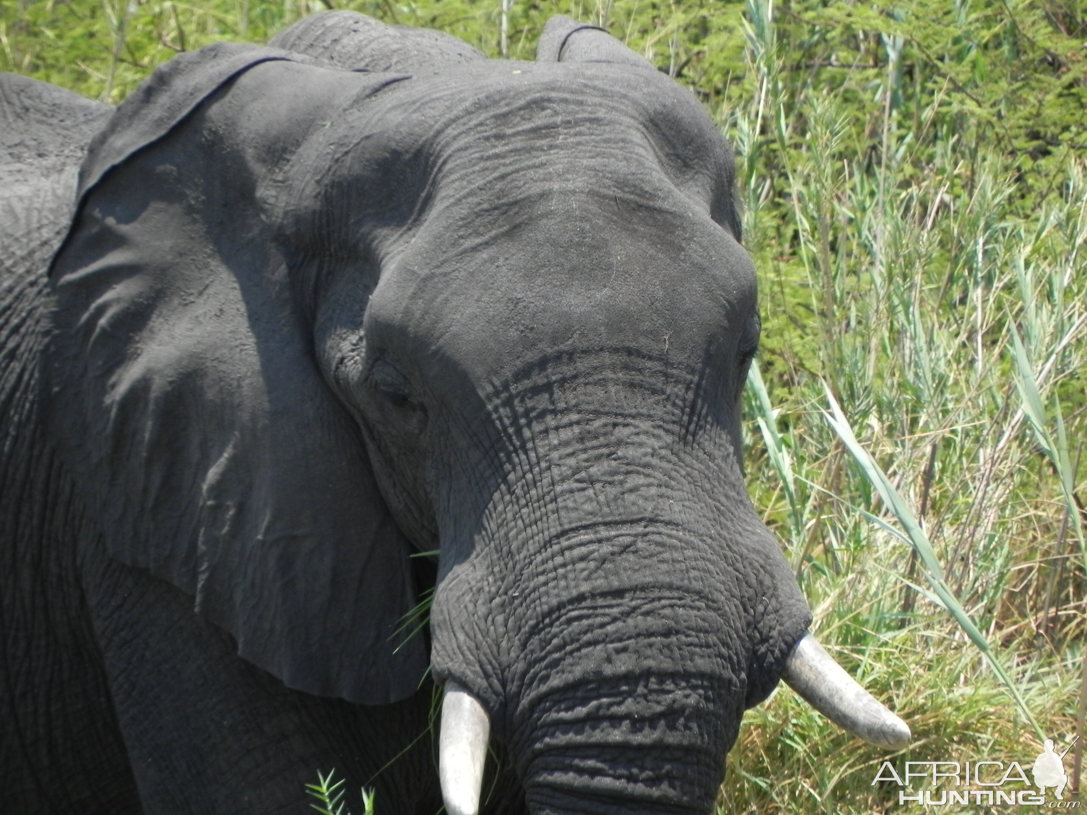
<instances>
[{"instance_id":1,"label":"wrinkled grey elephant trunk hanging between the two tusks","mask_svg":"<svg viewBox=\"0 0 1087 815\"><path fill-rule=\"evenodd\" d=\"M434 475L434 675L487 711L534 813L708 812L810 612L727 416L691 413L666 360L546 362Z\"/></svg>"}]
</instances>

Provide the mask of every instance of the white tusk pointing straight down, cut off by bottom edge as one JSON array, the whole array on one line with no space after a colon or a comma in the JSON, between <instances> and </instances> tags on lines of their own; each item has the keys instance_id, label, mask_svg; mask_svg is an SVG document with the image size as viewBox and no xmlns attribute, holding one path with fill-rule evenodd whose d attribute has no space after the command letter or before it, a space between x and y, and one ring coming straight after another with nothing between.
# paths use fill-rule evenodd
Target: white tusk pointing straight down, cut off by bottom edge
<instances>
[{"instance_id":1,"label":"white tusk pointing straight down, cut off by bottom edge","mask_svg":"<svg viewBox=\"0 0 1087 815\"><path fill-rule=\"evenodd\" d=\"M478 700L455 682L441 699L438 778L448 815L478 815L490 718Z\"/></svg>"}]
</instances>

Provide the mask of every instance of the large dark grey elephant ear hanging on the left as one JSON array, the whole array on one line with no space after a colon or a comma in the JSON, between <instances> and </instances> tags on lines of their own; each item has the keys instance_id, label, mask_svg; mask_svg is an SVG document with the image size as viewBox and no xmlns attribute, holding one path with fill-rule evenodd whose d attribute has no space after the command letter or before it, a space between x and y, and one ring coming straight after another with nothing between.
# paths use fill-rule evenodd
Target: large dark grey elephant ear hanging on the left
<instances>
[{"instance_id":1,"label":"large dark grey elephant ear hanging on the left","mask_svg":"<svg viewBox=\"0 0 1087 815\"><path fill-rule=\"evenodd\" d=\"M239 84L270 60L303 64ZM112 556L190 593L287 686L380 704L427 666L397 637L411 550L259 201L346 104L403 77L307 62L212 47L117 110L50 272L49 422Z\"/></svg>"}]
</instances>

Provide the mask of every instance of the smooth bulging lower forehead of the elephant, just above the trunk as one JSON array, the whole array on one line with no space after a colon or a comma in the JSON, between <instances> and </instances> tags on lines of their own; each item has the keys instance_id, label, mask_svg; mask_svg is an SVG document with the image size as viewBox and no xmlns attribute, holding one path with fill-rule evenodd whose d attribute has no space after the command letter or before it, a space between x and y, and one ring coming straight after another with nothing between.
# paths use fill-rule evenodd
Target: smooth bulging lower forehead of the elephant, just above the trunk
<instances>
[{"instance_id":1,"label":"smooth bulging lower forehead of the elephant, just above the trunk","mask_svg":"<svg viewBox=\"0 0 1087 815\"><path fill-rule=\"evenodd\" d=\"M460 233L436 215L383 276L367 321L378 341L440 349L476 379L540 349L625 347L698 369L730 358L754 310L749 258L704 215L582 196Z\"/></svg>"}]
</instances>

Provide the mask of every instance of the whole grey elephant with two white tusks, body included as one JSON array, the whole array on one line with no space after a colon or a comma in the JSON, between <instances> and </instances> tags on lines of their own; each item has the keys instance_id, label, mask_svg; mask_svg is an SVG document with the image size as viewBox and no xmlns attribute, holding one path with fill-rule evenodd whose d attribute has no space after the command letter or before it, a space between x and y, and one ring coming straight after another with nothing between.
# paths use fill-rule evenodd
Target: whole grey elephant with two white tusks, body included
<instances>
[{"instance_id":1,"label":"whole grey elephant with two white tusks, body included","mask_svg":"<svg viewBox=\"0 0 1087 815\"><path fill-rule=\"evenodd\" d=\"M707 813L783 678L908 742L746 491L729 148L604 30L329 11L0 122L0 810Z\"/></svg>"}]
</instances>

